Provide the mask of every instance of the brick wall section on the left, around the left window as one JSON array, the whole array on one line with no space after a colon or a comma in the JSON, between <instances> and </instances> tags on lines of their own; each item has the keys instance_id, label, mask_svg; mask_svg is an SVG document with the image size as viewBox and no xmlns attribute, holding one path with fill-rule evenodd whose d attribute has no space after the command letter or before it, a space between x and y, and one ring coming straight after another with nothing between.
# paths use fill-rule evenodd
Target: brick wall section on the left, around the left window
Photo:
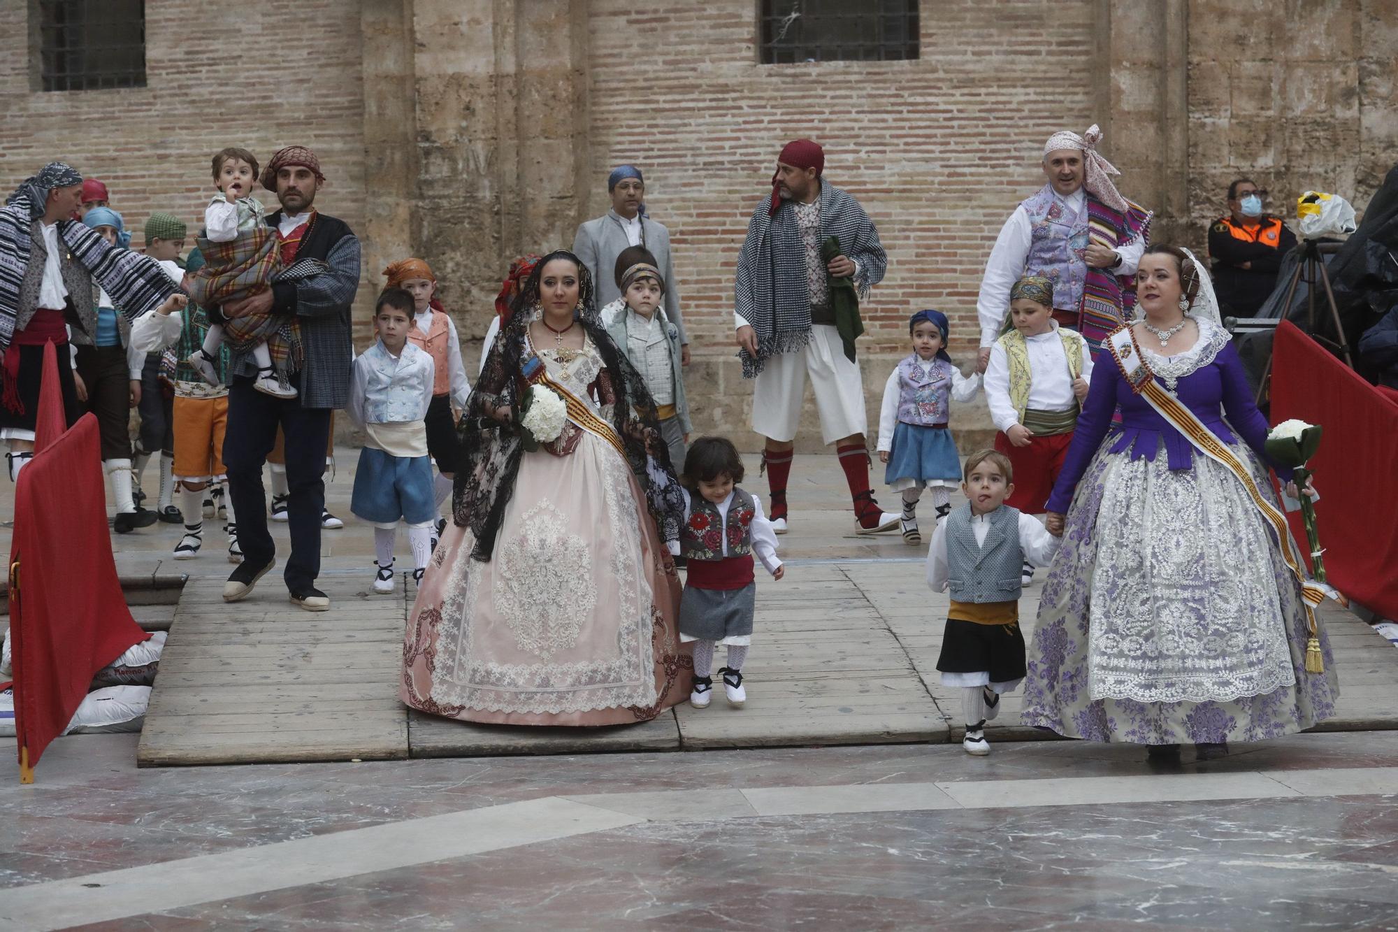
<instances>
[{"instance_id":1,"label":"brick wall section on the left, around the left window","mask_svg":"<svg viewBox=\"0 0 1398 932\"><path fill-rule=\"evenodd\" d=\"M133 246L144 243L145 218L162 210L190 224L192 248L212 195L215 151L243 146L266 162L278 147L301 143L316 150L329 182L316 206L362 224L358 1L147 0L144 88L49 94L31 90L28 13L24 0L0 4L4 193L63 160L106 182ZM236 57L224 52L229 36ZM275 209L274 196L259 196Z\"/></svg>"}]
</instances>

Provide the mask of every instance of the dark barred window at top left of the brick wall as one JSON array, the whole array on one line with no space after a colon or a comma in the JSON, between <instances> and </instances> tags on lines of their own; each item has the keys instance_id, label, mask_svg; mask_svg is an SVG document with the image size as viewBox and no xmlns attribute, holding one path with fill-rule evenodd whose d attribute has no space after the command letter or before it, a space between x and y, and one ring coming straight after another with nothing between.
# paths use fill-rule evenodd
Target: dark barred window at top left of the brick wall
<instances>
[{"instance_id":1,"label":"dark barred window at top left of the brick wall","mask_svg":"<svg viewBox=\"0 0 1398 932\"><path fill-rule=\"evenodd\" d=\"M145 87L145 0L38 0L38 14L45 91Z\"/></svg>"}]
</instances>

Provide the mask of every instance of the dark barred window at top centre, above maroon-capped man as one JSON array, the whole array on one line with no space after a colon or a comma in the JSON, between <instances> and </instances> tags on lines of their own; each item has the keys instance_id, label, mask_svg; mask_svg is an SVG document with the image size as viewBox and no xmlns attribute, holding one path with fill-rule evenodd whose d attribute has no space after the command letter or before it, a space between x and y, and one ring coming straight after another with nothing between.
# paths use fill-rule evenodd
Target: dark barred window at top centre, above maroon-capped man
<instances>
[{"instance_id":1,"label":"dark barred window at top centre, above maroon-capped man","mask_svg":"<svg viewBox=\"0 0 1398 932\"><path fill-rule=\"evenodd\" d=\"M918 0L762 0L763 64L918 57Z\"/></svg>"}]
</instances>

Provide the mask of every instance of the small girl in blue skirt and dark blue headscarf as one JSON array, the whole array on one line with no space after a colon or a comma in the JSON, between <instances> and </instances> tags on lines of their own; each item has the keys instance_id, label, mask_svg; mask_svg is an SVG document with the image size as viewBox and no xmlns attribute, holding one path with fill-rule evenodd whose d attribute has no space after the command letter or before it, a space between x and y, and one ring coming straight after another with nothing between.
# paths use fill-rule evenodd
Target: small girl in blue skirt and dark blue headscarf
<instances>
[{"instance_id":1,"label":"small girl in blue skirt and dark blue headscarf","mask_svg":"<svg viewBox=\"0 0 1398 932\"><path fill-rule=\"evenodd\" d=\"M942 518L951 509L952 488L960 483L960 455L946 430L949 402L970 402L980 390L980 376L966 378L946 355L948 325L941 311L918 311L907 322L913 353L903 358L884 385L878 418L878 458L888 463L884 481L903 494L903 540L923 542L917 529L917 500L932 490L932 505Z\"/></svg>"}]
</instances>

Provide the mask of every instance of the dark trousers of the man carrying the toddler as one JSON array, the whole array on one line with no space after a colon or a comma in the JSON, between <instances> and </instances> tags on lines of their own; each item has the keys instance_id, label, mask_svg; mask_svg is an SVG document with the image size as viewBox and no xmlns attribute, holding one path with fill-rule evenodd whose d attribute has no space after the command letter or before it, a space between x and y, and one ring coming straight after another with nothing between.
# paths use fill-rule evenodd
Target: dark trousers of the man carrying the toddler
<instances>
[{"instance_id":1,"label":"dark trousers of the man carrying the toddler","mask_svg":"<svg viewBox=\"0 0 1398 932\"><path fill-rule=\"evenodd\" d=\"M301 375L291 381L299 390ZM278 399L253 388L250 378L228 386L228 430L224 434L224 467L228 494L238 512L238 543L250 567L264 567L277 556L267 530L267 493L263 465L285 435L287 519L291 526L291 558L282 578L291 592L312 589L320 575L320 512L326 507L326 444L330 409L302 407L301 397Z\"/></svg>"}]
</instances>

